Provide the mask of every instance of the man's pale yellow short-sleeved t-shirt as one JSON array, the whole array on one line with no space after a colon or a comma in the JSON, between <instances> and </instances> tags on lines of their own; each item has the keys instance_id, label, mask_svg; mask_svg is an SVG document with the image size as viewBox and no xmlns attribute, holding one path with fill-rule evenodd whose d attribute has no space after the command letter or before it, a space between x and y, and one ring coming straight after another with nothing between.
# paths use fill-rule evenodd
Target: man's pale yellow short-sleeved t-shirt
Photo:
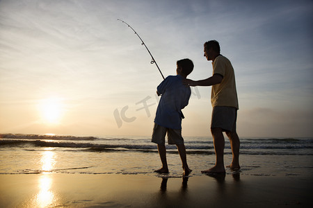
<instances>
[{"instance_id":1,"label":"man's pale yellow short-sleeved t-shirt","mask_svg":"<svg viewBox=\"0 0 313 208\"><path fill-rule=\"evenodd\" d=\"M223 76L223 80L220 84L212 86L212 106L228 106L239 109L234 69L232 68L230 60L223 55L218 55L214 62L212 62L212 65L213 74L217 73Z\"/></svg>"}]
</instances>

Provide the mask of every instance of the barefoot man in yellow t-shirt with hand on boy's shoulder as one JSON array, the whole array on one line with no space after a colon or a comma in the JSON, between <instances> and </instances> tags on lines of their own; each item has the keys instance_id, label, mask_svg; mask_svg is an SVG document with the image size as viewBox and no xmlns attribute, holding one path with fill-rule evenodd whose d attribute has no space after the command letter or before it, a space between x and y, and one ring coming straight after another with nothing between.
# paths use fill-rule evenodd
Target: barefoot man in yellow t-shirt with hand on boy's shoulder
<instances>
[{"instance_id":1,"label":"barefoot man in yellow t-shirt with hand on boy's shoulder","mask_svg":"<svg viewBox=\"0 0 313 208\"><path fill-rule=\"evenodd\" d=\"M225 173L224 147L225 139L223 132L226 132L232 147L232 164L227 166L236 171L239 166L240 141L236 133L236 116L238 98L234 69L230 60L220 55L220 45L216 40L204 43L204 56L212 61L213 76L204 80L185 80L184 84L189 86L212 86L211 104L213 107L211 118L211 134L214 139L216 164L202 173L216 174Z\"/></svg>"}]
</instances>

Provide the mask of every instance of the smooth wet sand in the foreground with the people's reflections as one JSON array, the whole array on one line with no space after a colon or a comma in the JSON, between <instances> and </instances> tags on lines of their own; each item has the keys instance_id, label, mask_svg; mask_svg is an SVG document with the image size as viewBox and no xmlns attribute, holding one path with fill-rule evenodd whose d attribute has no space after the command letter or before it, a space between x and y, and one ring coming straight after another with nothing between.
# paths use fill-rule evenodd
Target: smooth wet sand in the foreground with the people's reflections
<instances>
[{"instance_id":1,"label":"smooth wet sand in the foreground with the people's reflections","mask_svg":"<svg viewBox=\"0 0 313 208\"><path fill-rule=\"evenodd\" d=\"M0 175L0 207L312 207L313 178Z\"/></svg>"}]
</instances>

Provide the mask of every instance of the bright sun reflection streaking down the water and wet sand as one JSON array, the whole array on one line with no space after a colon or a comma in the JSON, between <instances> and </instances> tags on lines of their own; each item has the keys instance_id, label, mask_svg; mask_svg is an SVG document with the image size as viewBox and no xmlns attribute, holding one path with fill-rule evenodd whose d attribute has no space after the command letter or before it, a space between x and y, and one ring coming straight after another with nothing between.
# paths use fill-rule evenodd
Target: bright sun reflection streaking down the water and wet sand
<instances>
[{"instance_id":1,"label":"bright sun reflection streaking down the water and wet sand","mask_svg":"<svg viewBox=\"0 0 313 208\"><path fill-rule=\"evenodd\" d=\"M51 150L54 150L54 148L45 148L40 159L44 173L40 175L38 180L39 192L35 196L35 207L51 207L57 200L54 192L51 191L53 180L51 173L48 173L56 163L56 155Z\"/></svg>"}]
</instances>

